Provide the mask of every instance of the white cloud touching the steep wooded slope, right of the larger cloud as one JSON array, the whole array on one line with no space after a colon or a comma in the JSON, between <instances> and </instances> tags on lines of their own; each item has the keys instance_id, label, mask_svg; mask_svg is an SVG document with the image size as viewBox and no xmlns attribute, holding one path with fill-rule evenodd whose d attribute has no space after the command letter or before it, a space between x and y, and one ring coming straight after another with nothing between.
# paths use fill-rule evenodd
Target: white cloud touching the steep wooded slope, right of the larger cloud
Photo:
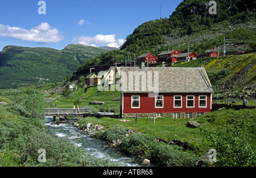
<instances>
[{"instance_id":1,"label":"white cloud touching the steep wooded slope, right of the larger cloud","mask_svg":"<svg viewBox=\"0 0 256 178\"><path fill-rule=\"evenodd\" d=\"M83 45L91 45L91 46L108 46L108 47L120 47L125 40L123 39L115 39L115 34L112 35L101 35L98 34L96 36L79 36L78 38L73 38L72 42L79 43Z\"/></svg>"}]
</instances>

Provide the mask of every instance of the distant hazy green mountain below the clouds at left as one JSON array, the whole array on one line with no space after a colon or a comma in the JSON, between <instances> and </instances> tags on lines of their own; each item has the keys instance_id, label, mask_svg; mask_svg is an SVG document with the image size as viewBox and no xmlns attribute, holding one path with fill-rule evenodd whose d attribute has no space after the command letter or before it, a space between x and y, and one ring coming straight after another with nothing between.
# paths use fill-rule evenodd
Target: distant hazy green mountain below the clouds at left
<instances>
[{"instance_id":1,"label":"distant hazy green mountain below the clouds at left","mask_svg":"<svg viewBox=\"0 0 256 178\"><path fill-rule=\"evenodd\" d=\"M62 81L79 65L110 50L81 44L62 50L9 45L0 52L0 88Z\"/></svg>"}]
</instances>

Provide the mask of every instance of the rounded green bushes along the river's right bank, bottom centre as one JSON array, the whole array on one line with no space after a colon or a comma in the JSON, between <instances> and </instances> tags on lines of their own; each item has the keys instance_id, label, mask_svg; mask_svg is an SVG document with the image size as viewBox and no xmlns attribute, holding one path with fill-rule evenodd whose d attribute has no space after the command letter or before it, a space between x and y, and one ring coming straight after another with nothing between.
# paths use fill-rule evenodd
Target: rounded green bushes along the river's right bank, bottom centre
<instances>
[{"instance_id":1,"label":"rounded green bushes along the river's right bank, bottom centre","mask_svg":"<svg viewBox=\"0 0 256 178\"><path fill-rule=\"evenodd\" d=\"M157 142L152 136L131 134L119 146L130 154L140 155L164 166L193 166L197 157L183 152L182 148Z\"/></svg>"}]
</instances>

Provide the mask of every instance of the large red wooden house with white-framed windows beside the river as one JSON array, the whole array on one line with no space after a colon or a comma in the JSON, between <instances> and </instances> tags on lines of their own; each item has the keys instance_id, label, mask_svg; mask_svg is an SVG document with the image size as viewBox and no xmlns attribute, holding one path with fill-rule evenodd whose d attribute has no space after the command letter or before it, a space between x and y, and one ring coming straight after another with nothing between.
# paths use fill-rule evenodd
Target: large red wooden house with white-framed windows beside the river
<instances>
[{"instance_id":1,"label":"large red wooden house with white-framed windows beside the river","mask_svg":"<svg viewBox=\"0 0 256 178\"><path fill-rule=\"evenodd\" d=\"M213 89L204 68L142 66L120 71L122 117L155 113L156 117L192 118L212 109Z\"/></svg>"}]
</instances>

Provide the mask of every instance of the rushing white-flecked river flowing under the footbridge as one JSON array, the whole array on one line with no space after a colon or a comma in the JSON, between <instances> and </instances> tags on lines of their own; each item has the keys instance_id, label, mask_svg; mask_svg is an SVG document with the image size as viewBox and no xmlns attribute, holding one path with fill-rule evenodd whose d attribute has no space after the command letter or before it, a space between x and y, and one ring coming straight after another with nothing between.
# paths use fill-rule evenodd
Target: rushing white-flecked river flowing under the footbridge
<instances>
[{"instance_id":1,"label":"rushing white-flecked river flowing under the footbridge","mask_svg":"<svg viewBox=\"0 0 256 178\"><path fill-rule=\"evenodd\" d=\"M72 140L78 147L82 147L89 154L97 158L108 157L115 162L123 162L129 166L141 166L134 163L133 156L125 155L114 148L106 147L106 144L93 136L80 132L79 129L73 126L74 120L53 122L52 117L47 117L46 125L49 130L55 131L59 137L65 137Z\"/></svg>"}]
</instances>

